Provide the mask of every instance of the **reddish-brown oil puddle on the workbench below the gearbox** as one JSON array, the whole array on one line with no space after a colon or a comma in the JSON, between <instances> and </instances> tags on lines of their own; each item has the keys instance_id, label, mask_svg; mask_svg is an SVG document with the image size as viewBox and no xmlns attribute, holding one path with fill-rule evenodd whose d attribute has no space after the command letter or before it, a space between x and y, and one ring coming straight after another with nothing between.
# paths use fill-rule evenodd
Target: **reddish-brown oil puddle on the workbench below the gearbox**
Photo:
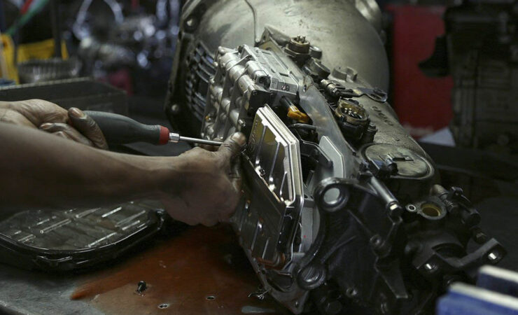
<instances>
[{"instance_id":1,"label":"reddish-brown oil puddle on the workbench below the gearbox","mask_svg":"<svg viewBox=\"0 0 518 315\"><path fill-rule=\"evenodd\" d=\"M107 314L242 314L243 307L287 314L271 298L248 297L260 283L228 227L198 226L157 243L85 276L71 299ZM139 281L148 286L142 293Z\"/></svg>"}]
</instances>

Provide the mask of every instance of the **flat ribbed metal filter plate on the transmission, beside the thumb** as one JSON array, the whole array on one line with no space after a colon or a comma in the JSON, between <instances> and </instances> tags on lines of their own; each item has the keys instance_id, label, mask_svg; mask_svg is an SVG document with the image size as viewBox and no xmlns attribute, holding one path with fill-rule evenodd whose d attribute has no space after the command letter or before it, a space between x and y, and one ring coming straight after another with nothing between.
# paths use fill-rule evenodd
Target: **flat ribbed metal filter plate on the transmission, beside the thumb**
<instances>
[{"instance_id":1,"label":"flat ribbed metal filter plate on the transmission, beside the thumb","mask_svg":"<svg viewBox=\"0 0 518 315\"><path fill-rule=\"evenodd\" d=\"M293 239L283 234L294 232L283 225L297 221L304 197L298 141L268 106L255 114L244 164L253 183L234 219L241 246L251 260L281 265L292 254L286 242Z\"/></svg>"}]
</instances>

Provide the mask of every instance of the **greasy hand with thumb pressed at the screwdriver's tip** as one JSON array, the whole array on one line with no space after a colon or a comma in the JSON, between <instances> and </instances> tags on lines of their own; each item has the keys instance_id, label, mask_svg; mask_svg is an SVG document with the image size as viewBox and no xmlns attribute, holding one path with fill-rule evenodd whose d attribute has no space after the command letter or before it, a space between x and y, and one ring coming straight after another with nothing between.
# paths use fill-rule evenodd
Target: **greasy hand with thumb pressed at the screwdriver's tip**
<instances>
[{"instance_id":1,"label":"greasy hand with thumb pressed at the screwdriver's tip","mask_svg":"<svg viewBox=\"0 0 518 315\"><path fill-rule=\"evenodd\" d=\"M238 159L245 144L246 137L237 132L218 151L198 147L175 158L175 176L162 198L169 214L190 225L228 221L239 201Z\"/></svg>"}]
</instances>

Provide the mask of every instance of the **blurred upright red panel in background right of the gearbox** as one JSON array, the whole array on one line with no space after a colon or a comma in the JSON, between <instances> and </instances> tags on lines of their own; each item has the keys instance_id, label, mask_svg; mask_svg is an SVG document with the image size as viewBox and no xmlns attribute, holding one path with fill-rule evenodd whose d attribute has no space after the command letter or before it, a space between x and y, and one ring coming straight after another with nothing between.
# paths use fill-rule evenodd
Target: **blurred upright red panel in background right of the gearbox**
<instances>
[{"instance_id":1,"label":"blurred upright red panel in background right of the gearbox","mask_svg":"<svg viewBox=\"0 0 518 315\"><path fill-rule=\"evenodd\" d=\"M387 6L393 14L393 107L400 122L419 138L446 127L452 117L451 76L429 78L419 69L444 34L442 6Z\"/></svg>"}]
</instances>

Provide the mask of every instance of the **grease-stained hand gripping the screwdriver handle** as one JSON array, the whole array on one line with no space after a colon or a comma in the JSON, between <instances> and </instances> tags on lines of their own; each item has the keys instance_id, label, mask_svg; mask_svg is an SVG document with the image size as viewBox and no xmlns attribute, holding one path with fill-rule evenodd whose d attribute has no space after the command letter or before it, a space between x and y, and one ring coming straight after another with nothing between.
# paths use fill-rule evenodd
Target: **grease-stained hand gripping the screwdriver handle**
<instances>
[{"instance_id":1,"label":"grease-stained hand gripping the screwdriver handle","mask_svg":"<svg viewBox=\"0 0 518 315\"><path fill-rule=\"evenodd\" d=\"M80 109L68 111L42 99L0 102L0 122L36 128L96 148L107 149L99 126Z\"/></svg>"}]
</instances>

